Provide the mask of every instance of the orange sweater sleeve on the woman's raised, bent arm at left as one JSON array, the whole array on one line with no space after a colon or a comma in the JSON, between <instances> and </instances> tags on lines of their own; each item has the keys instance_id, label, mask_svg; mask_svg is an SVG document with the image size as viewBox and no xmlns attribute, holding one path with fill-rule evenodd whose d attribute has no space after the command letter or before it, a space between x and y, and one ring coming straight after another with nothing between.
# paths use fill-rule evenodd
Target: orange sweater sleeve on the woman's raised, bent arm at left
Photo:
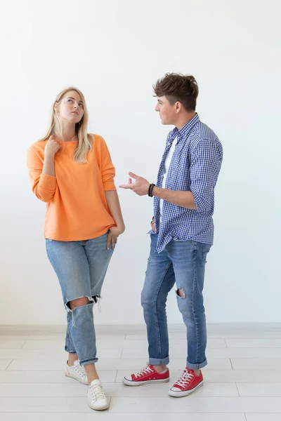
<instances>
[{"instance_id":1,"label":"orange sweater sleeve on the woman's raised, bent arm at left","mask_svg":"<svg viewBox=\"0 0 281 421\"><path fill-rule=\"evenodd\" d=\"M44 161L33 147L27 152L27 168L30 175L32 192L38 199L48 202L55 194L56 179L53 175L42 174Z\"/></svg>"}]
</instances>

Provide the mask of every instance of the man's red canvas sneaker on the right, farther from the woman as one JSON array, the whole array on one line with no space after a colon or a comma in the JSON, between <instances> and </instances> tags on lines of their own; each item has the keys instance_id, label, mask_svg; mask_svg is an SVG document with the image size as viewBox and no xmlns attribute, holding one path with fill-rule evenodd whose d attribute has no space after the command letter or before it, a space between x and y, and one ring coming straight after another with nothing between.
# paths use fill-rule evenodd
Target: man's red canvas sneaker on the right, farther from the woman
<instances>
[{"instance_id":1,"label":"man's red canvas sneaker on the right, farther from the woman","mask_svg":"<svg viewBox=\"0 0 281 421\"><path fill-rule=\"evenodd\" d=\"M181 377L169 390L169 395L174 396L174 398L181 398L181 396L188 396L195 392L201 386L203 386L202 372L200 372L200 375L196 375L194 370L185 368Z\"/></svg>"}]
</instances>

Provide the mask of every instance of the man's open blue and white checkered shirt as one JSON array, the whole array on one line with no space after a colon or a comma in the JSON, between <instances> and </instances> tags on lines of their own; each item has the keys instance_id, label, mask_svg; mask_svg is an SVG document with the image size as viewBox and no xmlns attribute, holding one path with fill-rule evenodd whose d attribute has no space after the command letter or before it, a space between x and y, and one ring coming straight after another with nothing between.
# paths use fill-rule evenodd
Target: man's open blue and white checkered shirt
<instances>
[{"instance_id":1,"label":"man's open blue and white checkered shirt","mask_svg":"<svg viewBox=\"0 0 281 421\"><path fill-rule=\"evenodd\" d=\"M164 163L175 139L176 149L162 186ZM175 140L176 141L176 140ZM196 114L178 130L174 128L166 140L157 177L157 187L169 190L192 192L196 210L163 203L162 223L159 225L159 201L154 198L155 228L159 234L157 252L160 253L171 239L194 240L212 244L214 241L214 188L223 159L223 148L215 133L202 123ZM155 234L150 231L150 234Z\"/></svg>"}]
</instances>

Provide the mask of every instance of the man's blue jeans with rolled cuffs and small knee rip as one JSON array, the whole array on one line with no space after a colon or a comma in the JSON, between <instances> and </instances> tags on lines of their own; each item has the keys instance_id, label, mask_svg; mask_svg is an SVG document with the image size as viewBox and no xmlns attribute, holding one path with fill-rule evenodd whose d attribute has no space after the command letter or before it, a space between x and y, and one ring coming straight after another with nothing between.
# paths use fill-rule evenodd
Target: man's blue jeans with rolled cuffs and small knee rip
<instances>
[{"instance_id":1,"label":"man's blue jeans with rolled cuffs and small knee rip","mask_svg":"<svg viewBox=\"0 0 281 421\"><path fill-rule=\"evenodd\" d=\"M157 236L151 235L148 269L141 294L148 330L149 363L155 366L169 363L166 299L176 283L178 309L187 329L186 366L192 370L203 368L207 365L207 328L202 291L206 257L211 246L197 241L171 240L161 253L157 253Z\"/></svg>"}]
</instances>

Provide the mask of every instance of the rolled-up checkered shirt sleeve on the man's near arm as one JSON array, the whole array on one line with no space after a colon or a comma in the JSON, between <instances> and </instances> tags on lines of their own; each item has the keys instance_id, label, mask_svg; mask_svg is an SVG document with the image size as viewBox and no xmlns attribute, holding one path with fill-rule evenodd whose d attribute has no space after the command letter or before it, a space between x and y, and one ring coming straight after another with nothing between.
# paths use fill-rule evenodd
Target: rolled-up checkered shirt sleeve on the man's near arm
<instances>
[{"instance_id":1,"label":"rolled-up checkered shirt sleeve on the man's near arm","mask_svg":"<svg viewBox=\"0 0 281 421\"><path fill-rule=\"evenodd\" d=\"M223 149L214 140L202 139L191 152L190 190L198 212L209 210L211 197L221 170Z\"/></svg>"}]
</instances>

